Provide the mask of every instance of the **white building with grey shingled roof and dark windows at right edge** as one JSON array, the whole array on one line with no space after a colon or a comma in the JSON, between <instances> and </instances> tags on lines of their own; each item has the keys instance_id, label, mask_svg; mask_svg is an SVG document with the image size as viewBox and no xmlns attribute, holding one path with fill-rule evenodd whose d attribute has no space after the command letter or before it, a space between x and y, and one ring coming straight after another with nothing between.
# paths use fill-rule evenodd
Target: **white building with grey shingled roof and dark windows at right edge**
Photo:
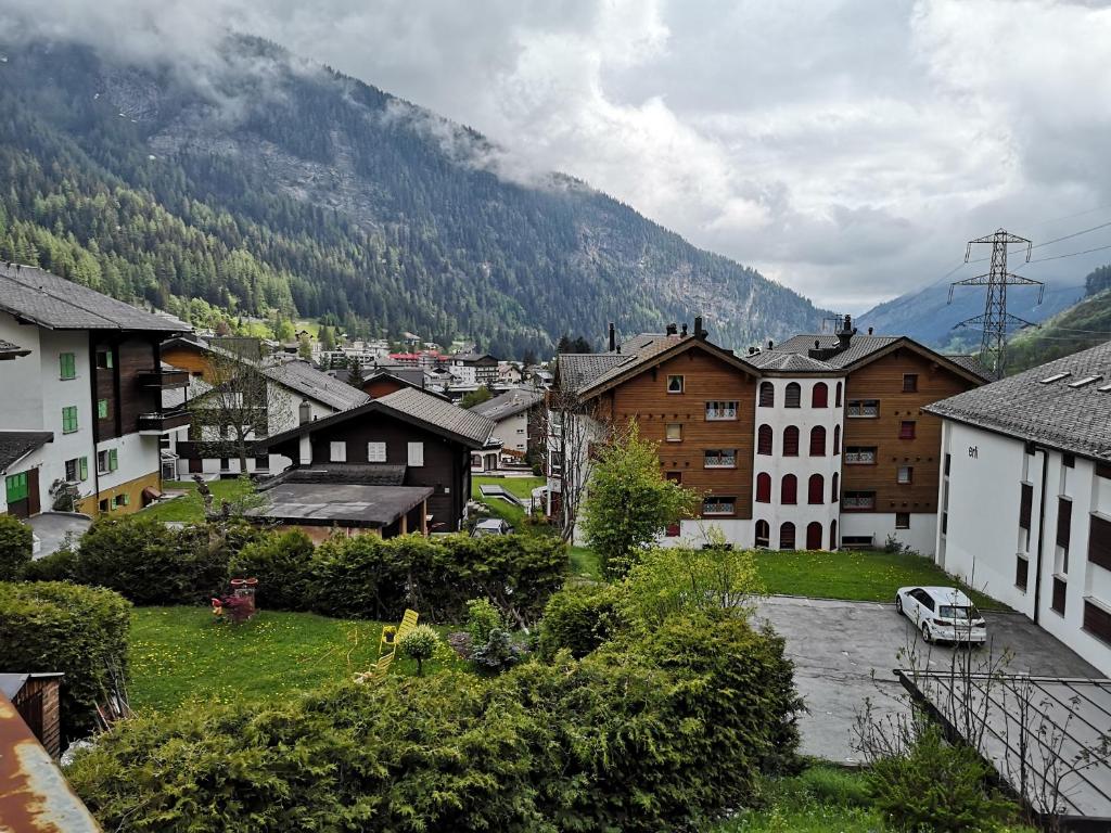
<instances>
[{"instance_id":1,"label":"white building with grey shingled roof and dark windows at right edge","mask_svg":"<svg viewBox=\"0 0 1111 833\"><path fill-rule=\"evenodd\" d=\"M1111 342L924 410L938 564L1111 675Z\"/></svg>"}]
</instances>

